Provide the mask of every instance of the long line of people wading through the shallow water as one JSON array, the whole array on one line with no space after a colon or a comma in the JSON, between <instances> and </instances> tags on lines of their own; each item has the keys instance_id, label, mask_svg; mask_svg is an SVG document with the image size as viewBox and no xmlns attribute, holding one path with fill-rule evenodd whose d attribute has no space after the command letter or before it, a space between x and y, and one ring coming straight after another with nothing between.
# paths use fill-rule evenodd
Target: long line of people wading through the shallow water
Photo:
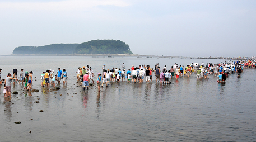
<instances>
[{"instance_id":1,"label":"long line of people wading through the shallow water","mask_svg":"<svg viewBox=\"0 0 256 142\"><path fill-rule=\"evenodd\" d=\"M248 60L238 60L238 61L225 61L224 63L191 63L188 65L178 65L174 64L170 69L167 69L167 66L160 68L159 64L155 64L155 67L151 68L150 65L138 65L134 67L132 65L131 69L125 70L125 65L123 63L122 68L106 69L105 64L102 67L102 72L97 73L97 79L94 77L94 70L92 70L89 65L86 67L78 67L77 70L77 81L80 82L80 86L83 86L83 90L89 88L89 83L94 84L94 79L96 79L98 91L104 86L108 87L110 82L120 83L143 83L146 80L146 83L152 82L152 74L156 77L156 83L170 84L171 79L175 78L178 80L180 77L191 77L192 74L196 74L197 80L208 79L209 74L218 77L218 82L225 82L229 74L237 73L240 77L241 73L245 68L255 68L256 60L255 58L250 58ZM0 78L1 78L2 69L0 69ZM18 77L17 77L18 75ZM12 75L7 74L5 79L1 78L4 81L4 97L11 97L11 84L25 83L24 89L31 91L32 89L32 76L33 72L25 72L21 69L21 72L18 73L17 69L13 69ZM68 74L66 69L63 71L58 68L57 73L54 73L54 70L48 69L45 72L43 71L40 75L41 86L50 88L52 86L55 88L56 84L60 84L61 79L63 79L63 85L67 86L67 77Z\"/></svg>"}]
</instances>

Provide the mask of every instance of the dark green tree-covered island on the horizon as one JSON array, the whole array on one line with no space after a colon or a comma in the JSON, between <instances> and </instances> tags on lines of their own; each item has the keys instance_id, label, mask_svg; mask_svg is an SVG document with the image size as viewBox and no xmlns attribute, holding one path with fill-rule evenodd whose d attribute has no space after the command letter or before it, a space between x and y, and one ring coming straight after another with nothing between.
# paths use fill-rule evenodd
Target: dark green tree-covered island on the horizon
<instances>
[{"instance_id":1,"label":"dark green tree-covered island on the horizon","mask_svg":"<svg viewBox=\"0 0 256 142\"><path fill-rule=\"evenodd\" d=\"M129 45L120 40L91 40L82 44L51 44L20 46L13 54L133 54Z\"/></svg>"}]
</instances>

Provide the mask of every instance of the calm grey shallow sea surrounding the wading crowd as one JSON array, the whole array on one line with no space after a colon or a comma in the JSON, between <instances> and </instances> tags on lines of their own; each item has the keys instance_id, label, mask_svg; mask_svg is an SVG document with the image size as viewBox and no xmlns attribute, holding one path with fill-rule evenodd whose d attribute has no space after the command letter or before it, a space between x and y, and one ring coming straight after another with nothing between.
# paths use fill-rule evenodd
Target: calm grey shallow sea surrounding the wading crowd
<instances>
[{"instance_id":1,"label":"calm grey shallow sea surrounding the wading crowd","mask_svg":"<svg viewBox=\"0 0 256 142\"><path fill-rule=\"evenodd\" d=\"M32 70L36 77L32 88L40 91L26 92L21 84L12 85L12 92L18 94L12 94L8 102L0 86L0 141L256 141L255 69L245 69L241 78L231 74L225 84L217 83L213 75L196 81L192 74L162 85L153 76L148 84L110 83L101 92L96 86L84 92L77 87L80 83L76 79L77 68L83 65L92 67L96 74L103 64L111 69L124 63L128 69L159 63L161 69L164 65L170 69L175 63L225 60L82 56L0 59L2 78L14 68ZM59 91L49 92L41 87L40 74L58 67L67 70L68 85L60 84Z\"/></svg>"}]
</instances>

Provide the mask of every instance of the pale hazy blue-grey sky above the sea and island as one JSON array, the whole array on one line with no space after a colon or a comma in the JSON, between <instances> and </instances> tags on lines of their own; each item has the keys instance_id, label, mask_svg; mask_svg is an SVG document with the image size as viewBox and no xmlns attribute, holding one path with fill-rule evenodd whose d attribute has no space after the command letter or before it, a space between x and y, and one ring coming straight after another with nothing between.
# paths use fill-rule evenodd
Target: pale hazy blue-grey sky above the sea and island
<instances>
[{"instance_id":1,"label":"pale hazy blue-grey sky above the sea and island","mask_svg":"<svg viewBox=\"0 0 256 142\"><path fill-rule=\"evenodd\" d=\"M255 37L256 1L0 0L0 55L114 39L142 55L255 56Z\"/></svg>"}]
</instances>

